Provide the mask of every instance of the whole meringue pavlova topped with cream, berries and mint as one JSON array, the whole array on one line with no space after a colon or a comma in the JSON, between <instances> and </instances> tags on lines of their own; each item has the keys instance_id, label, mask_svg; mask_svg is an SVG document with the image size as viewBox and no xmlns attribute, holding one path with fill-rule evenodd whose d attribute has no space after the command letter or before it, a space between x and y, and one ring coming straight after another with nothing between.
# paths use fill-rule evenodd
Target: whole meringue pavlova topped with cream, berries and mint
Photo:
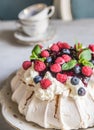
<instances>
[{"instance_id":1,"label":"whole meringue pavlova topped with cream, berries and mint","mask_svg":"<svg viewBox=\"0 0 94 130\"><path fill-rule=\"evenodd\" d=\"M36 45L11 81L12 100L29 122L71 130L94 126L94 44Z\"/></svg>"}]
</instances>

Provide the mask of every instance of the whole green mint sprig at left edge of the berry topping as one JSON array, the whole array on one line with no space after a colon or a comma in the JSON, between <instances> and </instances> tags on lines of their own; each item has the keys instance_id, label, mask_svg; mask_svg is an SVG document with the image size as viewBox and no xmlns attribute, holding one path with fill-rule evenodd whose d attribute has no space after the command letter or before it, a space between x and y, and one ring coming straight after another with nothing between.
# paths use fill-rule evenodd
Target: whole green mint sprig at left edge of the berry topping
<instances>
[{"instance_id":1,"label":"whole green mint sprig at left edge of the berry topping","mask_svg":"<svg viewBox=\"0 0 94 130\"><path fill-rule=\"evenodd\" d=\"M46 58L41 58L39 57L39 54L41 53L41 49L39 45L36 45L34 49L32 50L32 54L30 56L30 60L40 60L40 61L45 61Z\"/></svg>"}]
</instances>

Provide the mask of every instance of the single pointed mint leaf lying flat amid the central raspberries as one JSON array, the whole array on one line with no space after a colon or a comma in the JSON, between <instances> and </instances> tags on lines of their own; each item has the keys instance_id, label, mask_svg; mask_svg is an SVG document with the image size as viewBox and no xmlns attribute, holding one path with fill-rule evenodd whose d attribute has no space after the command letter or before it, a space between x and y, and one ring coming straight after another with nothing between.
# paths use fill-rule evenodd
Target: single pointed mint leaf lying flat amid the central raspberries
<instances>
[{"instance_id":1,"label":"single pointed mint leaf lying flat amid the central raspberries","mask_svg":"<svg viewBox=\"0 0 94 130\"><path fill-rule=\"evenodd\" d=\"M71 60L67 63L64 63L62 65L62 70L70 70L72 69L75 65L77 64L77 61L76 60Z\"/></svg>"}]
</instances>

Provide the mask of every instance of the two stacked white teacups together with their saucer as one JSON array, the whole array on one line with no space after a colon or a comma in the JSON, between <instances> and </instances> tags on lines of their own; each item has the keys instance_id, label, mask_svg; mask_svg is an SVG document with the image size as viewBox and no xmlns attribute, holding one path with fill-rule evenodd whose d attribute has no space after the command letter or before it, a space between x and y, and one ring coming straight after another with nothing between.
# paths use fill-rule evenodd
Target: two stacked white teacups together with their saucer
<instances>
[{"instance_id":1,"label":"two stacked white teacups together with their saucer","mask_svg":"<svg viewBox=\"0 0 94 130\"><path fill-rule=\"evenodd\" d=\"M20 31L17 30L14 36L21 41L24 39L23 41L31 42L50 39L53 32L49 18L54 14L54 11L54 6L47 6L42 3L25 8L18 14Z\"/></svg>"}]
</instances>

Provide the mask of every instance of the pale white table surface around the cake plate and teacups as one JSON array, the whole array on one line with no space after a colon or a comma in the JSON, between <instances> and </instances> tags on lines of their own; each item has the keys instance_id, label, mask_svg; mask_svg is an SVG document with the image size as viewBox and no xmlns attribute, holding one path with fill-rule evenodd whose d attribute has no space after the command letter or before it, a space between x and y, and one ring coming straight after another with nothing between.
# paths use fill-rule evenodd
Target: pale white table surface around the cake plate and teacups
<instances>
[{"instance_id":1,"label":"pale white table surface around the cake plate and teacups","mask_svg":"<svg viewBox=\"0 0 94 130\"><path fill-rule=\"evenodd\" d=\"M88 45L94 43L94 20L77 20L63 22L51 21L56 28L56 34L50 41L42 43L44 47L57 41L66 41L73 45L76 40ZM16 31L16 21L0 21L0 86L3 81L29 59L33 46L19 44L13 34ZM0 130L13 130L0 113Z\"/></svg>"}]
</instances>

